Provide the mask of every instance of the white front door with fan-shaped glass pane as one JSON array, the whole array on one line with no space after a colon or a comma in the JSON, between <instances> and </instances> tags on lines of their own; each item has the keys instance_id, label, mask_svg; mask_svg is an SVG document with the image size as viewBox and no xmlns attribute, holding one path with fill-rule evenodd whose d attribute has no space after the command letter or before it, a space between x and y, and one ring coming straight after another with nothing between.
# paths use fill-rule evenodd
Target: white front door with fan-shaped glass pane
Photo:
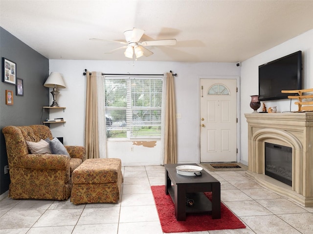
<instances>
[{"instance_id":1,"label":"white front door with fan-shaped glass pane","mask_svg":"<svg viewBox=\"0 0 313 234\"><path fill-rule=\"evenodd\" d=\"M237 161L237 80L200 79L200 161Z\"/></svg>"}]
</instances>

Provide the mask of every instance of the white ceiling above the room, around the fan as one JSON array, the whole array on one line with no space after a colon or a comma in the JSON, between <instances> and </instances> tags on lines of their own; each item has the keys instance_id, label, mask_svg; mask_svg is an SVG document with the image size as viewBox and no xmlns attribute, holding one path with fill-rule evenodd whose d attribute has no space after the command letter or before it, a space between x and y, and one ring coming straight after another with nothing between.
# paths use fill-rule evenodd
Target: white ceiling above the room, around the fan
<instances>
[{"instance_id":1,"label":"white ceiling above the room, around the fan","mask_svg":"<svg viewBox=\"0 0 313 234\"><path fill-rule=\"evenodd\" d=\"M0 0L0 25L48 59L130 60L116 42L177 39L138 60L237 62L313 29L313 0Z\"/></svg>"}]
</instances>

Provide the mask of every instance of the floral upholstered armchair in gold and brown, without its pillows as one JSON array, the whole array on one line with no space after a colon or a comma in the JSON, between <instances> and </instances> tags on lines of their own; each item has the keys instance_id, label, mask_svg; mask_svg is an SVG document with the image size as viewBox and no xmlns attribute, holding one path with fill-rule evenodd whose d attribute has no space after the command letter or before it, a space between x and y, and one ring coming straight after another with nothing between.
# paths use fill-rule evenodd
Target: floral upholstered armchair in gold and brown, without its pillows
<instances>
[{"instance_id":1,"label":"floral upholstered armchair in gold and brown, without its pillows","mask_svg":"<svg viewBox=\"0 0 313 234\"><path fill-rule=\"evenodd\" d=\"M45 125L6 126L5 137L11 183L9 197L65 200L71 194L71 173L86 157L83 146L63 146L68 155L33 154L29 144L53 138ZM51 145L50 145L51 146ZM49 147L48 147L49 148Z\"/></svg>"}]
</instances>

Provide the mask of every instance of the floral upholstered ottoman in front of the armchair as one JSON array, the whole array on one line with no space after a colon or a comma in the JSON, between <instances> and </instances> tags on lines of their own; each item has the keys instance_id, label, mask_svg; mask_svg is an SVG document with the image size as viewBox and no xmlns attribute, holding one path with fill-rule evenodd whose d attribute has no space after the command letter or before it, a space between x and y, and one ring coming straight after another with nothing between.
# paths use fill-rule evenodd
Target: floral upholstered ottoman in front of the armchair
<instances>
[{"instance_id":1,"label":"floral upholstered ottoman in front of the armchair","mask_svg":"<svg viewBox=\"0 0 313 234\"><path fill-rule=\"evenodd\" d=\"M120 198L123 175L121 159L90 158L72 172L70 201L116 203Z\"/></svg>"}]
</instances>

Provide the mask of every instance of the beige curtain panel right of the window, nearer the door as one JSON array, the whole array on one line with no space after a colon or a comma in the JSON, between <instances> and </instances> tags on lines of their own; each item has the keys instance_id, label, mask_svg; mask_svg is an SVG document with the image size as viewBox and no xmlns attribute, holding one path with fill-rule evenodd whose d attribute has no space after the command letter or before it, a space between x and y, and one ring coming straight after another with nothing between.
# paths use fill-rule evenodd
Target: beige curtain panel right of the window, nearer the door
<instances>
[{"instance_id":1,"label":"beige curtain panel right of the window, nearer the door","mask_svg":"<svg viewBox=\"0 0 313 234\"><path fill-rule=\"evenodd\" d=\"M165 105L164 164L175 164L177 163L176 105L174 78L170 72L166 73Z\"/></svg>"}]
</instances>

